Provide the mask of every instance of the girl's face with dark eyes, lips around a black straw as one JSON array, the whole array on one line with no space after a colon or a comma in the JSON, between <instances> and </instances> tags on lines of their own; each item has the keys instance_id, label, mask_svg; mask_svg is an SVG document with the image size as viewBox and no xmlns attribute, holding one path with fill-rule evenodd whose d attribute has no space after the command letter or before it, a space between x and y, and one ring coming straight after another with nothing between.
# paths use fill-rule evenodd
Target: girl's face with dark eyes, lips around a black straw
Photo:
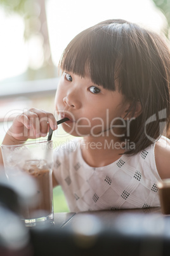
<instances>
[{"instance_id":1,"label":"girl's face with dark eyes, lips around a black straw","mask_svg":"<svg viewBox=\"0 0 170 256\"><path fill-rule=\"evenodd\" d=\"M81 78L74 73L63 72L56 91L58 115L69 118L62 127L73 136L104 136L112 130L110 124L117 120L122 127L120 120L125 117L129 105L118 90L103 89L90 78Z\"/></svg>"}]
</instances>

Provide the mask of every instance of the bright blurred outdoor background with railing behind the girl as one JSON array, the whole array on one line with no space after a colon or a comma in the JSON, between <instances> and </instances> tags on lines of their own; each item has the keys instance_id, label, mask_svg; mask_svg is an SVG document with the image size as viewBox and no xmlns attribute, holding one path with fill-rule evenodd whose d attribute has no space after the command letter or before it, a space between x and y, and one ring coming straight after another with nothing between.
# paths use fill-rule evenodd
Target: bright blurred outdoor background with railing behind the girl
<instances>
[{"instance_id":1,"label":"bright blurred outdoor background with railing behind the girl","mask_svg":"<svg viewBox=\"0 0 170 256\"><path fill-rule=\"evenodd\" d=\"M122 18L170 36L169 0L0 0L0 142L17 113L34 107L55 113L58 61L76 34ZM70 139L61 130L58 143ZM56 211L68 211L60 187Z\"/></svg>"}]
</instances>

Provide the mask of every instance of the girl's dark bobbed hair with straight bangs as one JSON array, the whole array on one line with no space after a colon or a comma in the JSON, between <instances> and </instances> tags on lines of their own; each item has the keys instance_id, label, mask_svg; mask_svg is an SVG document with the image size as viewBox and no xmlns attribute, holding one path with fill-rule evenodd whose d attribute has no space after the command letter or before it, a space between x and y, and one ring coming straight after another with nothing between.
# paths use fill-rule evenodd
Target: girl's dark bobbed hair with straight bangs
<instances>
[{"instance_id":1,"label":"girl's dark bobbed hair with straight bangs","mask_svg":"<svg viewBox=\"0 0 170 256\"><path fill-rule=\"evenodd\" d=\"M59 66L82 77L88 66L91 81L108 90L119 81L133 111L140 101L142 113L131 121L128 137L136 146L126 153L147 148L169 127L170 53L155 32L125 20L106 20L75 36Z\"/></svg>"}]
</instances>

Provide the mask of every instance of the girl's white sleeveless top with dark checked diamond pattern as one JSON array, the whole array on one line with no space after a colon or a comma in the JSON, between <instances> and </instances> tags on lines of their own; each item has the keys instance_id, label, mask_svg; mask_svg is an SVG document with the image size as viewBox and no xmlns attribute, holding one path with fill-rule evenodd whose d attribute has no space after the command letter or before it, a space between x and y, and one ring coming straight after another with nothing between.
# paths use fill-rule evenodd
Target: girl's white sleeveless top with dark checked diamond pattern
<instances>
[{"instance_id":1,"label":"girl's white sleeveless top with dark checked diamond pattern","mask_svg":"<svg viewBox=\"0 0 170 256\"><path fill-rule=\"evenodd\" d=\"M159 141L163 144L167 138L162 136ZM155 144L150 145L136 155L122 155L112 164L96 168L82 159L80 140L56 148L54 174L70 211L160 206L157 183L161 179L154 148Z\"/></svg>"}]
</instances>

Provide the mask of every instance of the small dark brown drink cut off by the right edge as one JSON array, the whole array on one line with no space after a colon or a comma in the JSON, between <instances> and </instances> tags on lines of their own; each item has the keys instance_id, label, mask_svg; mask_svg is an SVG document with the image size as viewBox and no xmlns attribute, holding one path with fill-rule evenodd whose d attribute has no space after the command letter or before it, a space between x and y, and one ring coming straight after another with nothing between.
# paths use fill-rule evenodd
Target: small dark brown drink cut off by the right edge
<instances>
[{"instance_id":1,"label":"small dark brown drink cut off by the right edge","mask_svg":"<svg viewBox=\"0 0 170 256\"><path fill-rule=\"evenodd\" d=\"M158 188L162 213L170 214L170 179L162 180Z\"/></svg>"}]
</instances>

